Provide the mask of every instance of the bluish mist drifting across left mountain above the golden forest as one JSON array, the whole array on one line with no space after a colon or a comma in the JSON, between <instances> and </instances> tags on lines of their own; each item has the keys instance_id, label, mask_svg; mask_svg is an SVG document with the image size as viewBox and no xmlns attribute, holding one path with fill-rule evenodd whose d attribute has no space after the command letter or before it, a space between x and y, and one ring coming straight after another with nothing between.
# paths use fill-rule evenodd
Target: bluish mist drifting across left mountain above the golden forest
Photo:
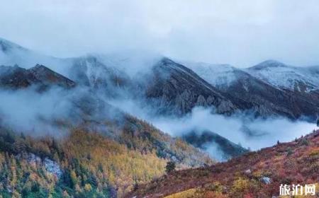
<instances>
[{"instance_id":1,"label":"bluish mist drifting across left mountain above the golden forest","mask_svg":"<svg viewBox=\"0 0 319 198\"><path fill-rule=\"evenodd\" d=\"M118 110L88 88L66 90L53 86L41 93L35 86L0 90L0 127L30 136L60 138L83 123L86 129L105 132L101 122L121 118Z\"/></svg>"}]
</instances>

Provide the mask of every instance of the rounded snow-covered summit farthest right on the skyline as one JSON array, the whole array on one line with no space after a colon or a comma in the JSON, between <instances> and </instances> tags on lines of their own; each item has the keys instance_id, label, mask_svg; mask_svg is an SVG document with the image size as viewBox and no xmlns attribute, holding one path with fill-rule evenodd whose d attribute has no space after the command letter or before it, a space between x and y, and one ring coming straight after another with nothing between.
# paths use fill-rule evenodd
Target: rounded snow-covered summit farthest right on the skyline
<instances>
[{"instance_id":1,"label":"rounded snow-covered summit farthest right on the skyline","mask_svg":"<svg viewBox=\"0 0 319 198\"><path fill-rule=\"evenodd\" d=\"M245 71L276 88L298 92L319 89L319 66L296 67L268 60Z\"/></svg>"}]
</instances>

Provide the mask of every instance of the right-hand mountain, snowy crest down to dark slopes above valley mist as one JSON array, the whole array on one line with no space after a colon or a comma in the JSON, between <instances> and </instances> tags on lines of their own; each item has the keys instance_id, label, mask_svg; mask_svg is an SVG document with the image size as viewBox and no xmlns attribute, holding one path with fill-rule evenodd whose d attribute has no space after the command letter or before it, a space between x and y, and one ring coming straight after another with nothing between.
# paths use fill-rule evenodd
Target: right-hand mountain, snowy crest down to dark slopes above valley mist
<instances>
[{"instance_id":1,"label":"right-hand mountain, snowy crest down to dark slopes above valley mist","mask_svg":"<svg viewBox=\"0 0 319 198\"><path fill-rule=\"evenodd\" d=\"M263 62L253 69L203 63L186 63L186 66L227 93L241 110L255 110L264 117L284 115L293 119L318 115L319 91L315 77L319 70L316 66L296 68L275 61ZM267 74L267 78L262 74ZM292 88L290 83L294 85Z\"/></svg>"}]
</instances>

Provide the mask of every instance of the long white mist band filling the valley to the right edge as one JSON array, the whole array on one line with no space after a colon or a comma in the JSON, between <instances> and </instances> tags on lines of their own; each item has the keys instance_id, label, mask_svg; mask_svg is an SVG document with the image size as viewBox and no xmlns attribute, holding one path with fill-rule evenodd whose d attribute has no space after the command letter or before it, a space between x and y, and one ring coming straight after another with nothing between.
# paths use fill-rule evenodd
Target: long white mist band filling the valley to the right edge
<instances>
[{"instance_id":1,"label":"long white mist band filling the valley to the right edge","mask_svg":"<svg viewBox=\"0 0 319 198\"><path fill-rule=\"evenodd\" d=\"M156 116L154 110L142 107L139 102L128 98L112 100L109 103L147 120L172 136L182 136L191 131L200 134L208 130L252 151L273 146L277 141L293 141L295 138L313 132L313 129L318 129L315 123L303 120L292 121L284 117L254 118L253 115L241 112L231 116L218 115L214 113L213 108L194 107L191 113L183 117L165 117ZM206 147L208 153L211 153L214 158L221 159L220 151L216 146L207 145Z\"/></svg>"}]
</instances>

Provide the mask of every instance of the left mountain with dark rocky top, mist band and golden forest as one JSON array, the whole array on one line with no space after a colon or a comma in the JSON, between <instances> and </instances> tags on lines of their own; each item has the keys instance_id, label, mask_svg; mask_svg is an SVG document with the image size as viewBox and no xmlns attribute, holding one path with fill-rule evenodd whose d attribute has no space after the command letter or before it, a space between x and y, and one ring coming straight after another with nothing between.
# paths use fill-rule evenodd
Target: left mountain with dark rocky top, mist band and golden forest
<instances>
[{"instance_id":1,"label":"left mountain with dark rocky top, mist band and golden forest","mask_svg":"<svg viewBox=\"0 0 319 198\"><path fill-rule=\"evenodd\" d=\"M0 81L1 88L8 90L5 93L14 97L21 90L28 91L33 97L21 100L30 105L52 92L56 98L44 99L44 106L38 104L43 108L40 113L26 108L34 111L26 114L33 116L30 129L16 129L6 122L11 114L1 106L3 197L121 197L135 185L163 175L167 161L174 161L179 168L213 163L206 153L182 139L109 105L99 90L76 86L46 66L1 66ZM33 86L37 89L28 88ZM50 90L52 86L60 86L62 92ZM54 108L47 112L50 105Z\"/></svg>"}]
</instances>

